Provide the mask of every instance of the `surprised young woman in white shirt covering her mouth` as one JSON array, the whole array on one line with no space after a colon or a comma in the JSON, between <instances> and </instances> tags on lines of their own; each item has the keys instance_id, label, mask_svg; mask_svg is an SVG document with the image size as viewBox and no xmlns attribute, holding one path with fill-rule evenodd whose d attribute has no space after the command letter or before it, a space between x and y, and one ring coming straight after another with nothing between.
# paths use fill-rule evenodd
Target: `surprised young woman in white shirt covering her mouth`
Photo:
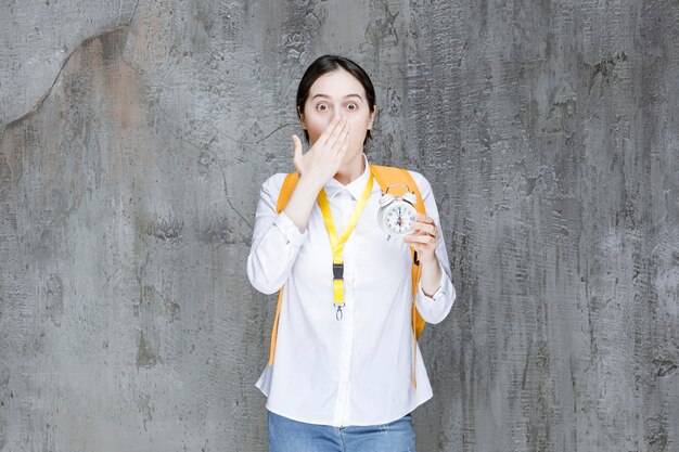
<instances>
[{"instance_id":1,"label":"surprised young woman in white shirt covering her mouth","mask_svg":"<svg viewBox=\"0 0 679 452\"><path fill-rule=\"evenodd\" d=\"M446 318L456 290L422 175L410 171L427 212L418 216L414 232L387 241L377 224L381 188L363 153L375 114L366 72L345 57L319 57L297 90L311 148L303 153L292 135L299 179L280 214L285 173L261 186L247 275L265 294L283 287L276 361L256 385L268 397L271 452L414 451L410 413L432 397L422 353L412 347L410 247L421 262L415 304L426 322ZM333 302L329 221L337 236L350 231L342 306Z\"/></svg>"}]
</instances>

